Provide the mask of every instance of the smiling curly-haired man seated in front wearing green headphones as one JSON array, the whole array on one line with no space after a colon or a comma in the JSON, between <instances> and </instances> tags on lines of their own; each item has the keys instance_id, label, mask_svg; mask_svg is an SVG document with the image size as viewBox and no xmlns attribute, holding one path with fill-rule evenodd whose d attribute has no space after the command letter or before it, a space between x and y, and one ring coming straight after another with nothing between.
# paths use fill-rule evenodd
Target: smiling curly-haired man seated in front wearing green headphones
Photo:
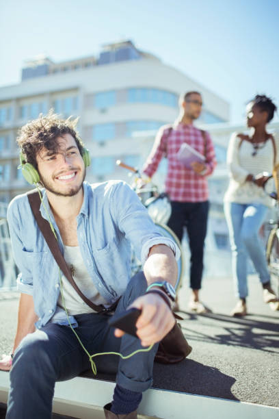
<instances>
[{"instance_id":1,"label":"smiling curly-haired man seated in front wearing green headphones","mask_svg":"<svg viewBox=\"0 0 279 419\"><path fill-rule=\"evenodd\" d=\"M69 322L90 354L128 355L153 345L150 351L120 359L114 398L105 406L106 418L136 418L142 392L152 384L157 342L175 322L170 309L175 292L167 289L172 291L176 282L179 250L159 234L126 183L84 181L88 151L76 122L50 112L21 129L18 145L23 172L38 173L43 186L40 214L53 225L75 282L87 299L104 310L96 312L86 305L59 273L27 194L16 196L8 208L8 222L21 271L17 280L21 298L10 361L8 419L51 418L55 382L89 368L88 355ZM144 272L131 279L130 242L144 266ZM111 305L117 305L116 314L127 307L141 310L138 339L109 328L104 313ZM0 368L9 369L7 362L2 361Z\"/></svg>"}]
</instances>

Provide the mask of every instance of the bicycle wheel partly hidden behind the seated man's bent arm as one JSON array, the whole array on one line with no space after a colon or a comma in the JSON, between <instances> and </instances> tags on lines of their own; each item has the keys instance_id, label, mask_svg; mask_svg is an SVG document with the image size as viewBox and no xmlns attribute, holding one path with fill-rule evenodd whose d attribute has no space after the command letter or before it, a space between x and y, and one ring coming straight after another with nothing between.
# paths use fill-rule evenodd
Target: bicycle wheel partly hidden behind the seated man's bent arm
<instances>
[{"instance_id":1,"label":"bicycle wheel partly hidden behind the seated man's bent arm","mask_svg":"<svg viewBox=\"0 0 279 419\"><path fill-rule=\"evenodd\" d=\"M159 224L159 223L155 223L155 225L157 226L157 229L159 229L159 232L161 233L161 235L172 239L176 243L176 245L178 246L178 249L181 251L181 257L177 261L178 275L177 275L177 279L176 279L176 285L174 287L175 290L178 291L178 289L182 285L183 269L184 269L183 253L182 253L182 249L181 249L181 242L179 241L179 239L176 236L176 234L172 231L172 229L170 229L170 227L168 227L167 225ZM131 271L132 271L132 276L135 275L139 270L142 270L142 264L135 257L135 252L132 249L132 257L131 257Z\"/></svg>"}]
</instances>

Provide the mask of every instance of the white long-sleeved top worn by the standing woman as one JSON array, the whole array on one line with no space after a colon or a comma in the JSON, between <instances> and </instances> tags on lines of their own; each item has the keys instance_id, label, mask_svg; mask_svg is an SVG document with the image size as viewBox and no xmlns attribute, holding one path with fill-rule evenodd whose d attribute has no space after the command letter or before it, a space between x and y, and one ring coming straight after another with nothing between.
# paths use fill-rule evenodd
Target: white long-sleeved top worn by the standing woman
<instances>
[{"instance_id":1,"label":"white long-sleeved top worn by the standing woman","mask_svg":"<svg viewBox=\"0 0 279 419\"><path fill-rule=\"evenodd\" d=\"M279 136L273 134L276 146L275 162L279 162ZM241 143L241 144L240 144ZM226 190L224 201L235 203L262 203L272 207L273 200L265 193L263 188L256 184L245 181L250 173L254 176L258 173L272 173L274 169L274 146L271 138L265 144L259 143L259 148L254 153L253 144L247 140L241 142L241 138L234 133L228 144L227 164L230 182Z\"/></svg>"}]
</instances>

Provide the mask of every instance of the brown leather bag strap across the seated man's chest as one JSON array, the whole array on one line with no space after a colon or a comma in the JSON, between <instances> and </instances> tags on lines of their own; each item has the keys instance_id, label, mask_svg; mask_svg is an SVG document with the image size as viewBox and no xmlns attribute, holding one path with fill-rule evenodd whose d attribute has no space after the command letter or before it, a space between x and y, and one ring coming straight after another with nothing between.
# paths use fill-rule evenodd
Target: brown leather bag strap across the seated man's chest
<instances>
[{"instance_id":1,"label":"brown leather bag strap across the seated man's chest","mask_svg":"<svg viewBox=\"0 0 279 419\"><path fill-rule=\"evenodd\" d=\"M53 232L51 231L51 226L49 225L49 221L42 218L42 214L40 213L39 192L37 190L31 190L30 192L27 193L27 196L28 196L28 200L29 200L31 210L34 214L34 217L35 217L36 221L37 221L38 227L39 227L42 235L44 236L44 240L46 240L47 245L49 246L49 250L53 254L55 262L57 263L59 268L62 270L65 277L68 279L68 281L70 282L72 287L75 289L77 294L79 294L81 299L83 299L83 301L87 305L89 305L89 307L94 309L95 312L111 312L112 310L114 310L116 308L116 305L117 305L118 301L116 301L116 303L114 303L114 305L111 305L111 307L105 308L103 305L96 305L96 304L92 303L92 301L90 301L81 292L81 290L79 290L79 287L75 283L75 280L73 279L73 277L70 273L70 269L68 268L68 266L66 264L66 261L65 261L63 255L60 251L59 244L58 244Z\"/></svg>"}]
</instances>

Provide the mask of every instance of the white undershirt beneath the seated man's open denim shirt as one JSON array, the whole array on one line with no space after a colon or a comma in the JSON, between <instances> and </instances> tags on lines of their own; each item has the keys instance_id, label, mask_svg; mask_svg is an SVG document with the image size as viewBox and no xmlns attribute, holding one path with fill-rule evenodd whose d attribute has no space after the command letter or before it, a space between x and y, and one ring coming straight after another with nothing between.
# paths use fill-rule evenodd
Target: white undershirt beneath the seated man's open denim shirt
<instances>
[{"instance_id":1,"label":"white undershirt beneath the seated man's open denim shirt","mask_svg":"<svg viewBox=\"0 0 279 419\"><path fill-rule=\"evenodd\" d=\"M101 294L98 293L94 282L88 275L88 271L85 268L83 259L81 256L81 251L79 246L64 246L64 259L68 268L70 268L72 277L75 279L75 283L81 290L81 292L96 305L107 305L107 301L103 299ZM89 307L83 299L77 294L75 289L69 283L68 279L62 275L62 292L64 296L64 303L70 316L75 316L76 314L85 314L85 313L94 313L94 309ZM62 294L60 290L59 298L57 301L59 307L64 308L62 301Z\"/></svg>"}]
</instances>

